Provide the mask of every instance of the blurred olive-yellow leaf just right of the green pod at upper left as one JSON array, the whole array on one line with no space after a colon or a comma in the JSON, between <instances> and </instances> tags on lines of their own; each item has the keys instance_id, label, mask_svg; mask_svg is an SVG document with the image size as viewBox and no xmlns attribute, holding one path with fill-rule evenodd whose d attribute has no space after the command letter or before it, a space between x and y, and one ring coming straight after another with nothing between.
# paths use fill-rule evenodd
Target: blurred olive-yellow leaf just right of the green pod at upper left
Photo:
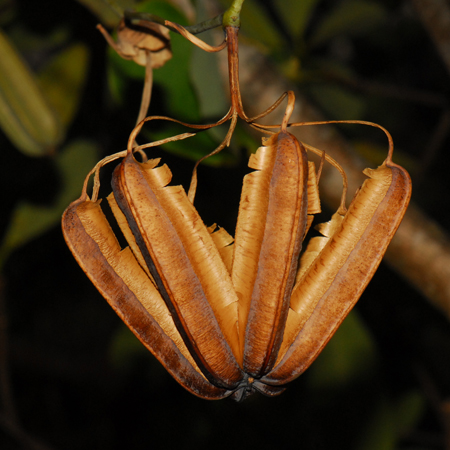
<instances>
[{"instance_id":1,"label":"blurred olive-yellow leaf just right of the green pod at upper left","mask_svg":"<svg viewBox=\"0 0 450 450\"><path fill-rule=\"evenodd\" d=\"M86 81L89 53L85 45L75 44L64 49L39 75L45 97L68 127L78 110Z\"/></svg>"}]
</instances>

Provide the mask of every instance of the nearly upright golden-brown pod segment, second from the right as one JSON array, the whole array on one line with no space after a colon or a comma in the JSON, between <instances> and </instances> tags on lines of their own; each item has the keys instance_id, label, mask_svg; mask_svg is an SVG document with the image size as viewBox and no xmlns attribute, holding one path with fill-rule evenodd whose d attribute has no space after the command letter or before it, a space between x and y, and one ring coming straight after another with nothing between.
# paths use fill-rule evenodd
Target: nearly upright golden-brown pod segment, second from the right
<instances>
[{"instance_id":1,"label":"nearly upright golden-brown pod segment, second from the right","mask_svg":"<svg viewBox=\"0 0 450 450\"><path fill-rule=\"evenodd\" d=\"M308 162L290 133L267 140L244 179L232 279L239 297L244 371L267 373L276 361L306 228Z\"/></svg>"}]
</instances>

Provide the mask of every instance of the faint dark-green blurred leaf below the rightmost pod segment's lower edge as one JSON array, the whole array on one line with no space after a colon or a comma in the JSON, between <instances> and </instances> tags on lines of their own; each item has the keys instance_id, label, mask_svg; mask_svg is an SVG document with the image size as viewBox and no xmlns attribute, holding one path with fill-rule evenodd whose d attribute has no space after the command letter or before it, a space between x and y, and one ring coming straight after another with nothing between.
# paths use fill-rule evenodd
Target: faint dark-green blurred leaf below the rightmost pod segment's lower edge
<instances>
[{"instance_id":1,"label":"faint dark-green blurred leaf below the rightmost pod segment's lower edge","mask_svg":"<svg viewBox=\"0 0 450 450\"><path fill-rule=\"evenodd\" d=\"M308 369L311 387L332 389L371 375L377 363L372 336L351 311L317 360Z\"/></svg>"}]
</instances>

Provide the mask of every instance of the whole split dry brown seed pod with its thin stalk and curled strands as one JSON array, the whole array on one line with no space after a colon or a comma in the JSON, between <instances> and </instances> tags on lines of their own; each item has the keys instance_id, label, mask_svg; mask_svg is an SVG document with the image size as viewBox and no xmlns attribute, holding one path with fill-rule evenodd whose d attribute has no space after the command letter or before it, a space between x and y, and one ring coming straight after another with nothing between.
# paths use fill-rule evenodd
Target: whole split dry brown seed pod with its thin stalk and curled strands
<instances>
[{"instance_id":1,"label":"whole split dry brown seed pod with its thin stalk and curled strands","mask_svg":"<svg viewBox=\"0 0 450 450\"><path fill-rule=\"evenodd\" d=\"M173 24L172 24L173 25ZM320 212L320 174L308 162L309 146L288 132L294 107L291 92L257 118L242 108L237 33L226 28L232 105L216 124L230 120L220 151L237 118L271 134L250 157L233 239L206 227L193 206L196 174L189 194L170 185L171 172L158 159L139 162L134 153L172 139L134 147L101 161L94 192L63 216L66 242L80 266L117 314L188 391L205 399L243 400L255 391L273 396L313 362L372 278L407 208L411 182L406 171L386 161L341 206L322 234L302 242ZM183 31L189 38L189 33ZM215 51L225 46L209 48ZM278 131L256 120L287 97ZM373 124L369 124L376 126ZM381 127L379 127L381 128ZM328 161L339 168L325 153ZM128 246L121 248L98 196L98 170L123 157L114 171L108 202ZM341 170L341 169L340 169ZM89 177L88 177L89 178ZM344 194L346 181L344 176ZM345 198L345 195L343 195Z\"/></svg>"}]
</instances>

